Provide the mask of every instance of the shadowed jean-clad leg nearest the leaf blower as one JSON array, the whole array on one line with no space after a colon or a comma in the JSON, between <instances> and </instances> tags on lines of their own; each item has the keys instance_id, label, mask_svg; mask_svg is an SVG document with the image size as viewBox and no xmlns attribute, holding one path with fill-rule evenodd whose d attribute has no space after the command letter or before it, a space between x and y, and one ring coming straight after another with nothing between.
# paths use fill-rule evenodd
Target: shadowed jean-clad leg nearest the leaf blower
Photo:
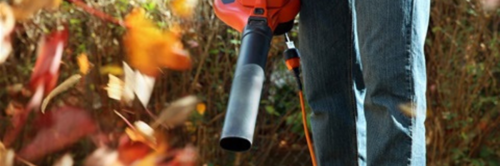
<instances>
[{"instance_id":1,"label":"shadowed jean-clad leg nearest the leaf blower","mask_svg":"<svg viewBox=\"0 0 500 166\"><path fill-rule=\"evenodd\" d=\"M301 3L299 46L304 94L312 109L311 128L318 164L364 165L364 85L360 58L354 49L350 0ZM357 117L356 112L360 112ZM360 124L358 130L356 123Z\"/></svg>"}]
</instances>

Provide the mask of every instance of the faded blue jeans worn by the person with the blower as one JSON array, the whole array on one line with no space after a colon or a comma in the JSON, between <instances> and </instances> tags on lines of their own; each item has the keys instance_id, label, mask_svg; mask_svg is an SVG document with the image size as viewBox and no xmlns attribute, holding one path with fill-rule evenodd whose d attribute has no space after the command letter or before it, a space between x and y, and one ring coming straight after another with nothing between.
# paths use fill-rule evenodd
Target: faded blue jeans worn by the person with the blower
<instances>
[{"instance_id":1,"label":"faded blue jeans worn by the person with the blower","mask_svg":"<svg viewBox=\"0 0 500 166\"><path fill-rule=\"evenodd\" d=\"M320 166L425 166L429 0L302 0L304 94Z\"/></svg>"}]
</instances>

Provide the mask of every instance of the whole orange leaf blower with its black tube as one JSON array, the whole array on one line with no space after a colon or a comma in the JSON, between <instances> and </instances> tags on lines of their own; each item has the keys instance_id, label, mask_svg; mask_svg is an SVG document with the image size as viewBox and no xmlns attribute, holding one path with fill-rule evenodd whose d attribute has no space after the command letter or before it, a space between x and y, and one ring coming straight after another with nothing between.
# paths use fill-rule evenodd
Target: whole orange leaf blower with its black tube
<instances>
[{"instance_id":1,"label":"whole orange leaf blower with its black tube","mask_svg":"<svg viewBox=\"0 0 500 166\"><path fill-rule=\"evenodd\" d=\"M300 1L215 0L213 7L218 18L242 33L219 144L228 151L247 151L252 145L271 38L292 28Z\"/></svg>"}]
</instances>

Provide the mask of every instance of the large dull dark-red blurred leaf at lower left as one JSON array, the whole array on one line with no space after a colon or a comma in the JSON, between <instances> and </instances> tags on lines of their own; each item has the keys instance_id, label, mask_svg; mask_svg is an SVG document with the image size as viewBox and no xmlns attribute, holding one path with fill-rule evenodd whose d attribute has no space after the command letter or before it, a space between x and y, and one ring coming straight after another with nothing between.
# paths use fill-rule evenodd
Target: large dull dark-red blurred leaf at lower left
<instances>
[{"instance_id":1,"label":"large dull dark-red blurred leaf at lower left","mask_svg":"<svg viewBox=\"0 0 500 166\"><path fill-rule=\"evenodd\" d=\"M27 146L21 149L20 156L35 161L45 155L59 151L77 142L96 130L94 122L85 110L62 107L38 117L41 129Z\"/></svg>"}]
</instances>

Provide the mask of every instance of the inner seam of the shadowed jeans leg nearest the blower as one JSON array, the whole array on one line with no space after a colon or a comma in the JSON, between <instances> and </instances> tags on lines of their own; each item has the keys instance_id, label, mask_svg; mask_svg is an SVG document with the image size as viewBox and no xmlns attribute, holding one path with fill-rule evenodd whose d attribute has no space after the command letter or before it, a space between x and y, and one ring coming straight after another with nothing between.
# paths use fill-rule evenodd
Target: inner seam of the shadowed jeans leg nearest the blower
<instances>
[{"instance_id":1,"label":"inner seam of the shadowed jeans leg nearest the blower","mask_svg":"<svg viewBox=\"0 0 500 166\"><path fill-rule=\"evenodd\" d=\"M352 56L353 56L353 42L354 42L354 26L352 26L352 24L354 23L354 21L352 20L353 19L353 16L352 16L352 8L354 7L353 3L349 3L347 2L349 6L349 17L350 17L350 24L349 24L349 29L350 29L350 35L349 35L349 68L347 70L347 78L349 80L349 99L350 99L350 104L351 104L351 107L352 107L352 114L353 114L353 118L352 118L352 121L353 121L353 124L354 124L354 137L352 137L353 139L353 143L354 143L354 156L355 156L355 159L354 159L354 165L355 166L358 166L359 163L358 163L358 158L359 158L359 152L358 152L358 147L357 147L357 123L356 123L356 117L357 117L357 108L356 108L356 101L355 101L355 94L354 94L354 81L353 81L353 77L352 77Z\"/></svg>"}]
</instances>

